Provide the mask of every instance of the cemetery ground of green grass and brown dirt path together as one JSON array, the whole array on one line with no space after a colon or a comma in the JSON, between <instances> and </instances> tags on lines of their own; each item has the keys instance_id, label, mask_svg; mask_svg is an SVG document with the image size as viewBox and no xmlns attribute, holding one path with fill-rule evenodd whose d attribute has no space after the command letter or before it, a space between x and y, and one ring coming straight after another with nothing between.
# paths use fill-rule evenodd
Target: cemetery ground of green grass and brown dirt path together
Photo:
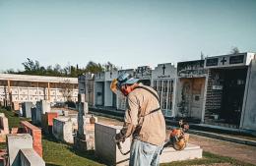
<instances>
[{"instance_id":1,"label":"cemetery ground of green grass and brown dirt path together","mask_svg":"<svg viewBox=\"0 0 256 166\"><path fill-rule=\"evenodd\" d=\"M10 129L18 127L20 121L28 120L15 116L12 111L0 108L9 119ZM112 125L122 125L122 122L114 119L98 117L98 122ZM190 142L200 145L203 149L203 158L190 161L172 162L162 166L253 166L256 164L256 147L190 135ZM0 144L1 148L5 143ZM42 137L43 159L47 166L94 166L104 165L95 156L94 150L81 152L74 150L71 144L63 143L50 135Z\"/></svg>"}]
</instances>

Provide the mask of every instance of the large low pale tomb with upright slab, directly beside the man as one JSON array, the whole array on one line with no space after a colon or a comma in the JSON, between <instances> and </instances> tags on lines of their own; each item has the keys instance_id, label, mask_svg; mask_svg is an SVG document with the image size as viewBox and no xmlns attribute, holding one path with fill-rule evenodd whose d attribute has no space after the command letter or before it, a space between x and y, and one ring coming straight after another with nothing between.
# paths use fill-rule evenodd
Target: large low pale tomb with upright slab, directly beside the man
<instances>
[{"instance_id":1,"label":"large low pale tomb with upright slab, directly beside the man","mask_svg":"<svg viewBox=\"0 0 256 166\"><path fill-rule=\"evenodd\" d=\"M122 155L116 146L114 137L122 129L121 126L108 126L96 123L96 156L104 160L107 165L129 165L129 154ZM131 139L126 138L122 143L123 152L130 149ZM160 155L160 163L202 158L203 149L195 144L187 144L181 151L173 147L165 147Z\"/></svg>"}]
</instances>

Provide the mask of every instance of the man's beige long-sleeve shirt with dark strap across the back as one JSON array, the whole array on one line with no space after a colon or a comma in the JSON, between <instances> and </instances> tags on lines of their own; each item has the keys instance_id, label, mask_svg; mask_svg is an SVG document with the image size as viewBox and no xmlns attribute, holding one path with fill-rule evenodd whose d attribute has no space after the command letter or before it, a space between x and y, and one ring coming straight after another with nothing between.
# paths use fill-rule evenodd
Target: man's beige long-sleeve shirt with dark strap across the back
<instances>
[{"instance_id":1,"label":"man's beige long-sleeve shirt with dark strap across the back","mask_svg":"<svg viewBox=\"0 0 256 166\"><path fill-rule=\"evenodd\" d=\"M151 113L160 108L160 102L156 96L140 86L150 89L158 96L156 90L141 83L129 93L121 135L124 138L132 135L133 138L161 145L165 139L165 120L161 110Z\"/></svg>"}]
</instances>

